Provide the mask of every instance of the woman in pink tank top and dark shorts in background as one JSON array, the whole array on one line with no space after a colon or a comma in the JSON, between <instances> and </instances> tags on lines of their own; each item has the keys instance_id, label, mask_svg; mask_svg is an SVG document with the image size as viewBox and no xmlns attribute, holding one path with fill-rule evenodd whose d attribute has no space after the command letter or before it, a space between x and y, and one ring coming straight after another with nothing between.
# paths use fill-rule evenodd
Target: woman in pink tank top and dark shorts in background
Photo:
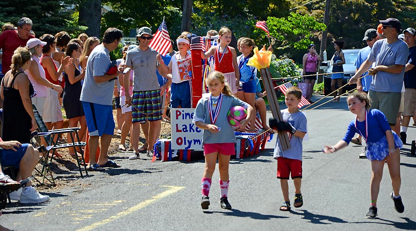
<instances>
[{"instance_id":1,"label":"woman in pink tank top and dark shorts in background","mask_svg":"<svg viewBox=\"0 0 416 231\"><path fill-rule=\"evenodd\" d=\"M315 85L316 81L316 72L318 70L318 62L321 62L322 59L316 52L316 45L310 44L308 46L308 53L303 55L303 75L305 83L311 84L312 89ZM306 75L306 76L305 76ZM312 91L311 94L308 95L306 98L308 101L311 101Z\"/></svg>"}]
</instances>

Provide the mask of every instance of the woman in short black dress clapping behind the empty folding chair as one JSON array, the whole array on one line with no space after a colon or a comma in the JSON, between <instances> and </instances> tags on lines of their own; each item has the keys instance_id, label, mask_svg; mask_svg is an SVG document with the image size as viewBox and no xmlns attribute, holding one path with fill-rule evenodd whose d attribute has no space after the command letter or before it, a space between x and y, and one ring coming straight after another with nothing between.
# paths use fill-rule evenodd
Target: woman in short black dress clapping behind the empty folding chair
<instances>
[{"instance_id":1,"label":"woman in short black dress clapping behind the empty folding chair","mask_svg":"<svg viewBox=\"0 0 416 231\"><path fill-rule=\"evenodd\" d=\"M73 63L65 68L64 72L64 109L67 114L67 119L69 119L69 127L78 126L78 122L81 125L78 135L79 138L82 139L87 130L87 122L85 121L84 109L81 101L79 101L82 89L81 80L83 80L85 76L85 68L81 69L78 61L81 55L81 47L76 42L69 42L65 53L73 59ZM69 139L67 138L67 140ZM74 156L75 150L69 148L69 154Z\"/></svg>"}]
</instances>

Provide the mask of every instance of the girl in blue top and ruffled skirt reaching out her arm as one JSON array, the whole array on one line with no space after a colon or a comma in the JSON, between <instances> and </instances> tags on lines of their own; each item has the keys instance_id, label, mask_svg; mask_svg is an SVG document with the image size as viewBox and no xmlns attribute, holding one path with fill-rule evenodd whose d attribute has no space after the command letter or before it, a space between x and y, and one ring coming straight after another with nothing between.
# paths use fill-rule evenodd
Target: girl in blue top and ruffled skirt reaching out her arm
<instances>
[{"instance_id":1,"label":"girl in blue top and ruffled skirt reaching out her arm","mask_svg":"<svg viewBox=\"0 0 416 231\"><path fill-rule=\"evenodd\" d=\"M391 197L397 212L402 213L404 206L399 194L400 178L400 148L403 143L397 134L392 131L384 114L377 109L369 109L369 99L362 92L354 92L347 98L348 109L357 115L356 119L348 125L347 133L343 140L334 146L326 146L324 153L331 153L343 147L347 147L355 133L360 134L366 140L367 158L371 161L371 205L366 218L373 219L377 216L377 197L380 182L383 175L384 163L387 162L392 178L393 192Z\"/></svg>"}]
</instances>

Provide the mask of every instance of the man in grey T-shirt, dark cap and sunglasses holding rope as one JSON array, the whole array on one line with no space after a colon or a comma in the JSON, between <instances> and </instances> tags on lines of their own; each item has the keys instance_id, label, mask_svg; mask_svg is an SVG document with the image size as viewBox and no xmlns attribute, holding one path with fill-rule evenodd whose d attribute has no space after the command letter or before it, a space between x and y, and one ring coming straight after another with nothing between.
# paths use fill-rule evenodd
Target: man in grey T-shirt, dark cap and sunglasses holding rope
<instances>
[{"instance_id":1,"label":"man in grey T-shirt, dark cap and sunglasses holding rope","mask_svg":"<svg viewBox=\"0 0 416 231\"><path fill-rule=\"evenodd\" d=\"M404 67L407 63L409 48L397 36L401 32L401 23L397 19L380 20L382 35L386 39L378 40L371 48L367 60L361 64L350 83L354 83L367 70L373 76L369 90L371 108L379 109L386 116L393 131L400 132L398 111L403 87ZM371 67L374 63L374 67ZM371 67L371 68L370 68Z\"/></svg>"}]
</instances>

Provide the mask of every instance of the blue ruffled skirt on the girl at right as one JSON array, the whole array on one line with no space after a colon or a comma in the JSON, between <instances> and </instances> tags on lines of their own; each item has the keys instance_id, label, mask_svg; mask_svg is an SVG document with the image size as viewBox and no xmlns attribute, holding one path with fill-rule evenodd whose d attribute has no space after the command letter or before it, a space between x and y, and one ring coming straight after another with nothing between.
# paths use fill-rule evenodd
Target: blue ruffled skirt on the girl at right
<instances>
[{"instance_id":1,"label":"blue ruffled skirt on the girl at right","mask_svg":"<svg viewBox=\"0 0 416 231\"><path fill-rule=\"evenodd\" d=\"M394 138L394 148L401 149L403 147L403 142L400 140L399 136L393 132ZM366 156L370 161L373 160L384 160L386 156L389 155L389 143L387 142L387 137L383 136L377 142L367 142L367 153Z\"/></svg>"}]
</instances>

